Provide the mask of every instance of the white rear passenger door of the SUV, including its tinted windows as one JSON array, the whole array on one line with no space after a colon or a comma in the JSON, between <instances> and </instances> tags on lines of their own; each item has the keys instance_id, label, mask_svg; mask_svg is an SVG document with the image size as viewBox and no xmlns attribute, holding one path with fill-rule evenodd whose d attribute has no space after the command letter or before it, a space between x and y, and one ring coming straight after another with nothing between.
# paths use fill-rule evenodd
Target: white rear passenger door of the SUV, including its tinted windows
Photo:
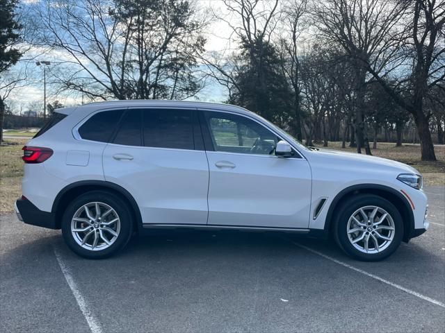
<instances>
[{"instance_id":1,"label":"white rear passenger door of the SUV, including its tinted windows","mask_svg":"<svg viewBox=\"0 0 445 333\"><path fill-rule=\"evenodd\" d=\"M105 179L133 195L143 223L207 223L209 166L196 110L129 108L103 163Z\"/></svg>"}]
</instances>

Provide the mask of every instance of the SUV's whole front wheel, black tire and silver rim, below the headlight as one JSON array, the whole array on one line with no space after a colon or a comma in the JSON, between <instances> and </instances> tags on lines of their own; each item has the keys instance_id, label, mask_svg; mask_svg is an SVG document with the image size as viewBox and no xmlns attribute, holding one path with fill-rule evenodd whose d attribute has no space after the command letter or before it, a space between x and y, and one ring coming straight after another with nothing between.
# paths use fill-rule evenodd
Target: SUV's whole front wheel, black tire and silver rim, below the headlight
<instances>
[{"instance_id":1,"label":"SUV's whole front wheel, black tire and silver rim, below the headlight","mask_svg":"<svg viewBox=\"0 0 445 333\"><path fill-rule=\"evenodd\" d=\"M359 194L341 205L334 232L337 244L348 255L375 262L389 257L401 244L403 221L385 198Z\"/></svg>"}]
</instances>

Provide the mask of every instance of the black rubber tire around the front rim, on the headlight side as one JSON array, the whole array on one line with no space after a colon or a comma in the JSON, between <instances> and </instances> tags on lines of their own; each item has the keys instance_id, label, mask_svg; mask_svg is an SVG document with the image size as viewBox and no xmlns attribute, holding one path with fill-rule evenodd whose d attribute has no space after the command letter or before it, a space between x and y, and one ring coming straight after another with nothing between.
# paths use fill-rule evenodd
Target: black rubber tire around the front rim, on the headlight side
<instances>
[{"instance_id":1,"label":"black rubber tire around the front rim, on the headlight side","mask_svg":"<svg viewBox=\"0 0 445 333\"><path fill-rule=\"evenodd\" d=\"M394 238L389 246L379 253L363 253L355 248L350 239L348 239L347 226L350 217L361 207L366 206L381 207L391 216L392 221L394 221ZM350 257L364 262L378 262L389 257L389 255L394 253L398 246L400 246L403 238L403 221L400 212L398 212L397 208L387 199L373 194L357 194L341 203L338 210L336 210L332 232L334 233L334 239L337 244L346 254L350 255ZM378 248L378 246L373 247Z\"/></svg>"}]
</instances>

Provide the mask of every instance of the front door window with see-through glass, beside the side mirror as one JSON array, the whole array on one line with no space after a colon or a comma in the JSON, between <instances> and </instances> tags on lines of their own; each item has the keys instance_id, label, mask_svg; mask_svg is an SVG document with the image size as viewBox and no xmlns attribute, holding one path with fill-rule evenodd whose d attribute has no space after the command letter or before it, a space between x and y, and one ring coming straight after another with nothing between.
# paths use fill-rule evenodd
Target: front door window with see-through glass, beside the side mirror
<instances>
[{"instance_id":1,"label":"front door window with see-through glass, beside the side mirror","mask_svg":"<svg viewBox=\"0 0 445 333\"><path fill-rule=\"evenodd\" d=\"M224 112L204 112L216 151L273 155L279 138L247 117Z\"/></svg>"}]
</instances>

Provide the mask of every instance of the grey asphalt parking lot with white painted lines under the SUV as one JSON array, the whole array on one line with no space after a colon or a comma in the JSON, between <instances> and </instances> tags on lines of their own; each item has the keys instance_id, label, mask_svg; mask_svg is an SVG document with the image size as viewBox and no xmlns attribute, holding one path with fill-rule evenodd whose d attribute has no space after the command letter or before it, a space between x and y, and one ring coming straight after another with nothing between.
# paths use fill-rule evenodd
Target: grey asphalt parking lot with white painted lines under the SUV
<instances>
[{"instance_id":1,"label":"grey asphalt parking lot with white painted lines under the SUV","mask_svg":"<svg viewBox=\"0 0 445 333\"><path fill-rule=\"evenodd\" d=\"M0 224L0 332L445 332L445 187L384 262L291 234L169 231L81 259L59 230Z\"/></svg>"}]
</instances>

